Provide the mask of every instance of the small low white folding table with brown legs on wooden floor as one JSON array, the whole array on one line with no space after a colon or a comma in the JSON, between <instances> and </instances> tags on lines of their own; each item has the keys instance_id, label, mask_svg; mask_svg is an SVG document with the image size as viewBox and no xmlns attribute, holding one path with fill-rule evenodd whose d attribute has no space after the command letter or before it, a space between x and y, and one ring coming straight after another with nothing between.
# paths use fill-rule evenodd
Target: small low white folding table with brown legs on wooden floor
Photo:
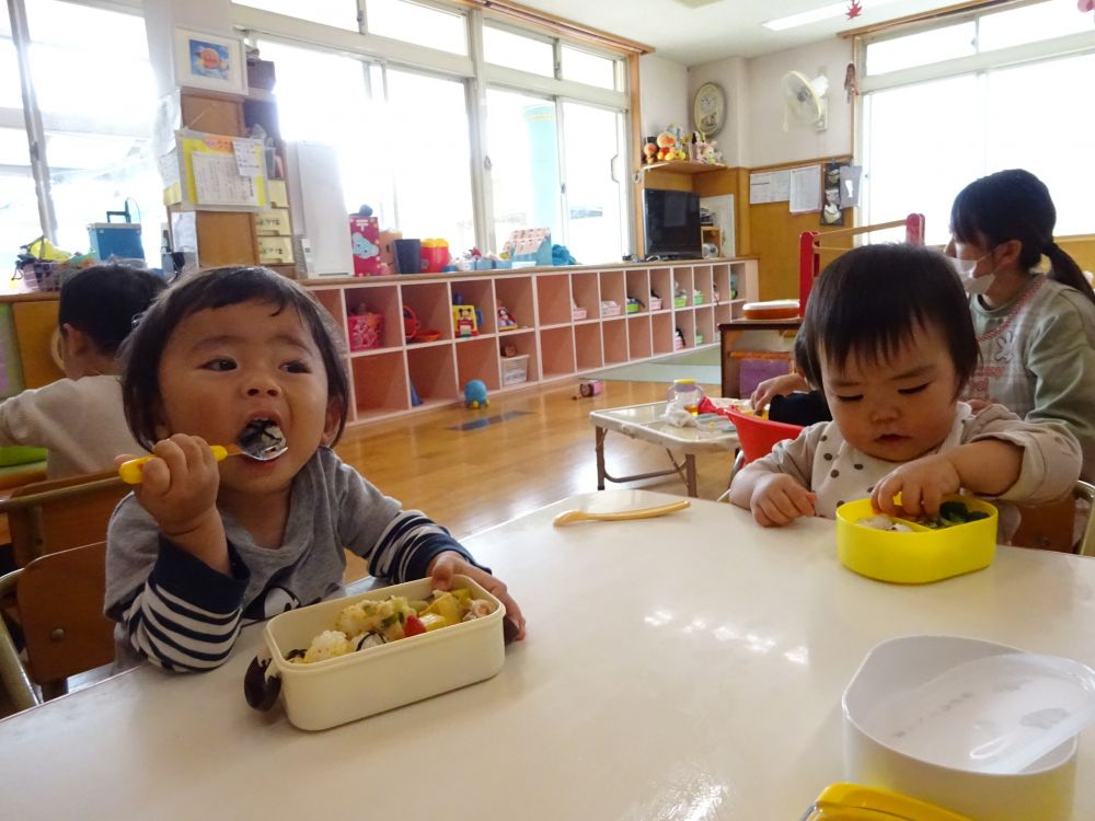
<instances>
[{"instance_id":1,"label":"small low white folding table with brown legs on wooden floor","mask_svg":"<svg viewBox=\"0 0 1095 821\"><path fill-rule=\"evenodd\" d=\"M589 421L595 428L595 441L597 448L597 489L604 489L604 481L609 482L637 482L638 479L654 478L656 476L669 476L678 474L688 487L689 496L699 496L695 486L695 454L712 453L718 451L734 452L738 447L737 431L713 430L710 428L678 428L662 421L666 413L665 402L652 402L645 405L630 405L627 407L613 407L608 410L593 410L589 414ZM645 442L653 442L666 449L672 467L665 471L654 471L652 473L636 473L632 476L612 476L604 466L604 437L608 431L614 430L632 439L641 439ZM681 464L673 455L673 451L684 454L684 463Z\"/></svg>"}]
</instances>

